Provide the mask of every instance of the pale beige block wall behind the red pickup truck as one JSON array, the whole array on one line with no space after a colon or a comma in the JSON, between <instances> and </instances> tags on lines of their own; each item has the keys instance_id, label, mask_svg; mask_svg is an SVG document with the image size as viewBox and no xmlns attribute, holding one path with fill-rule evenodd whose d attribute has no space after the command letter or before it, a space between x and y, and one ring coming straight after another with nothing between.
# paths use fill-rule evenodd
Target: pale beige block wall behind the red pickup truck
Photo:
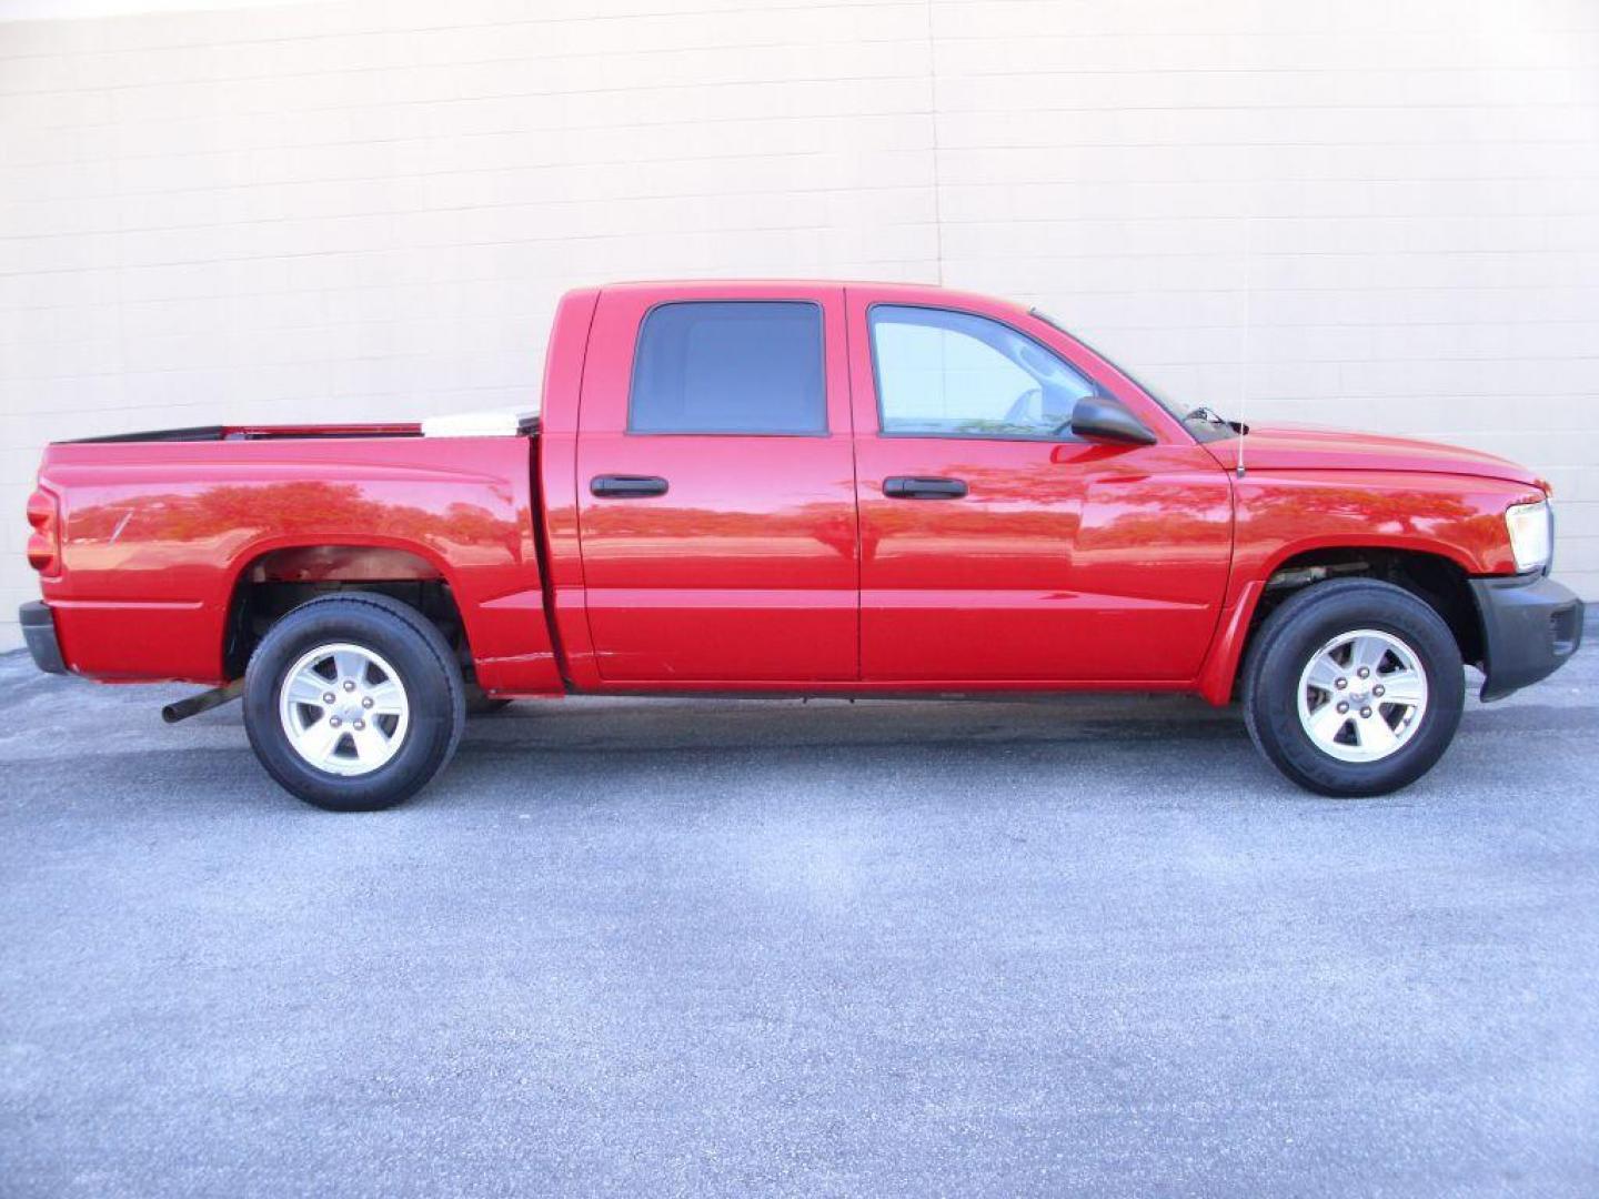
<instances>
[{"instance_id":1,"label":"pale beige block wall behind the red pickup truck","mask_svg":"<svg viewBox=\"0 0 1599 1199\"><path fill-rule=\"evenodd\" d=\"M1521 459L1599 598L1593 0L401 0L0 22L0 619L50 438L526 406L564 288L768 273Z\"/></svg>"}]
</instances>

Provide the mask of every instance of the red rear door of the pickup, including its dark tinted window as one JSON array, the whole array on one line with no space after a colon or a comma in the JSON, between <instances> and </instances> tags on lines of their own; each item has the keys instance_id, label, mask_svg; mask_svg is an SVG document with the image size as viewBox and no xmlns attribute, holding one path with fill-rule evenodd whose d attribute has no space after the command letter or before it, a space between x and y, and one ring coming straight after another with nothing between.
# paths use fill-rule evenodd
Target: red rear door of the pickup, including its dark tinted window
<instances>
[{"instance_id":1,"label":"red rear door of the pickup, including its dark tinted window","mask_svg":"<svg viewBox=\"0 0 1599 1199\"><path fill-rule=\"evenodd\" d=\"M851 433L841 288L604 291L577 438L600 678L857 678Z\"/></svg>"}]
</instances>

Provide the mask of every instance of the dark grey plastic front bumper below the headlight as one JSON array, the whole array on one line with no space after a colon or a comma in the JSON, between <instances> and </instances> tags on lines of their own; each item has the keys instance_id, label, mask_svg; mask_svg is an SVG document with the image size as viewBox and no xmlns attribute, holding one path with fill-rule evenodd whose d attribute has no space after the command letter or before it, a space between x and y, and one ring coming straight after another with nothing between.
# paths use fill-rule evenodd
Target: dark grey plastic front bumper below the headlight
<instances>
[{"instance_id":1,"label":"dark grey plastic front bumper below the headlight","mask_svg":"<svg viewBox=\"0 0 1599 1199\"><path fill-rule=\"evenodd\" d=\"M1506 574L1468 582L1482 620L1484 700L1553 675L1583 643L1583 601L1553 579Z\"/></svg>"}]
</instances>

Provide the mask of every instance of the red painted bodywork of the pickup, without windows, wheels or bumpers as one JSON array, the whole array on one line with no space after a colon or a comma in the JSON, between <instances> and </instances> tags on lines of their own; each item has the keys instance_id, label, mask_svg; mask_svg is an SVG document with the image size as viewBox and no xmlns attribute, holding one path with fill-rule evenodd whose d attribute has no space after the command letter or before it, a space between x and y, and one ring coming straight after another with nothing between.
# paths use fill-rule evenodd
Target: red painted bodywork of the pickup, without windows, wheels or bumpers
<instances>
[{"instance_id":1,"label":"red painted bodywork of the pickup, without windows, wheels or bumpers","mask_svg":"<svg viewBox=\"0 0 1599 1199\"><path fill-rule=\"evenodd\" d=\"M815 304L827 430L628 432L640 323L684 299ZM1011 325L1126 406L1154 444L883 436L873 304ZM51 446L27 555L69 665L219 683L243 577L440 579L478 681L500 694L1154 687L1222 702L1262 585L1289 558L1388 547L1506 574L1505 508L1541 494L1485 454L1316 430L1254 430L1238 476L1236 441L1196 443L1111 363L1023 309L902 285L572 293L552 334L540 433L417 432ZM604 475L668 488L595 496ZM895 497L884 488L895 476L953 480L964 494Z\"/></svg>"}]
</instances>

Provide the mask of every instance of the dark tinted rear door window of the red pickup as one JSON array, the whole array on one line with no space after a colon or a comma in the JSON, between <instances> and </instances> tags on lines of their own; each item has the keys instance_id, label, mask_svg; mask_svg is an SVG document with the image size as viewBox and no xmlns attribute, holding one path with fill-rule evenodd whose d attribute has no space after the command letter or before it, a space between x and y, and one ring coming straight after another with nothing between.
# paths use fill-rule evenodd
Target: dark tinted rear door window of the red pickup
<instances>
[{"instance_id":1,"label":"dark tinted rear door window of the red pickup","mask_svg":"<svg viewBox=\"0 0 1599 1199\"><path fill-rule=\"evenodd\" d=\"M664 304L644 317L627 427L636 433L825 433L815 304Z\"/></svg>"}]
</instances>

